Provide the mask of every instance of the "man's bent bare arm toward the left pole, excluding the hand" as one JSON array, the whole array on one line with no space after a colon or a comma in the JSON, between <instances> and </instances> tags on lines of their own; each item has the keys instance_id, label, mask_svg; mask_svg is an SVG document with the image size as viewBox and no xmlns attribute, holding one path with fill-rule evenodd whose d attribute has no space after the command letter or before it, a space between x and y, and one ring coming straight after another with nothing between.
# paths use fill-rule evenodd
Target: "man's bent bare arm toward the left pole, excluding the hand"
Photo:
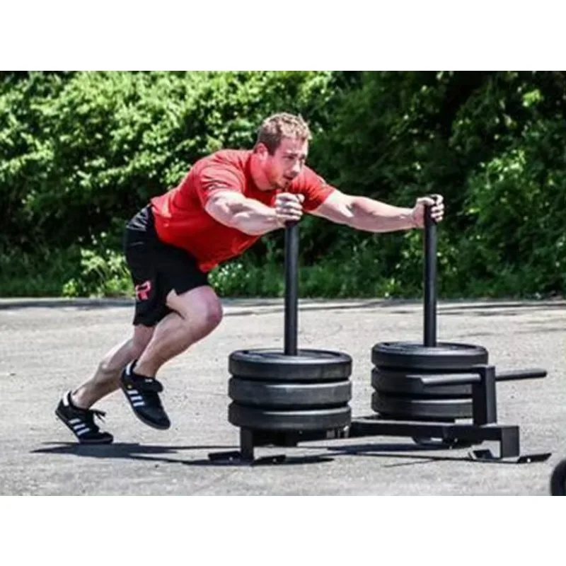
<instances>
[{"instance_id":1,"label":"man's bent bare arm toward the left pole, excluding the hand","mask_svg":"<svg viewBox=\"0 0 566 566\"><path fill-rule=\"evenodd\" d=\"M284 226L284 220L275 208L232 190L215 191L204 209L221 224L251 236L260 236Z\"/></svg>"}]
</instances>

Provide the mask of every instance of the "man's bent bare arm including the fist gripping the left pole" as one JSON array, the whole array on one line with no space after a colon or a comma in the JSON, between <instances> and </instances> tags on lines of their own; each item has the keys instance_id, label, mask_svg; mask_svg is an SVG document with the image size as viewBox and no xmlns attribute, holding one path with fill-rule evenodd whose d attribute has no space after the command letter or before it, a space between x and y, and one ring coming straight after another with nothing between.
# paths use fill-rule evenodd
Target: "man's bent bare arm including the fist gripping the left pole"
<instances>
[{"instance_id":1,"label":"man's bent bare arm including the fist gripping the left pole","mask_svg":"<svg viewBox=\"0 0 566 566\"><path fill-rule=\"evenodd\" d=\"M301 218L302 195L280 193L275 207L267 207L255 199L248 199L232 190L217 190L209 197L204 209L225 226L230 226L250 236L261 236L283 228L287 221Z\"/></svg>"}]
</instances>

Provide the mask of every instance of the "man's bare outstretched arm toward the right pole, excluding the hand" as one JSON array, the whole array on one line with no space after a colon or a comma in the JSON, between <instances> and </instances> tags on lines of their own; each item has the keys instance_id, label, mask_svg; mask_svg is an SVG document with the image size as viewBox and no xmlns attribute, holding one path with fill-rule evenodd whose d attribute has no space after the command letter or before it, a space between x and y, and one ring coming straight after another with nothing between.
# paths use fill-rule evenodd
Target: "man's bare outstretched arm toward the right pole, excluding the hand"
<instances>
[{"instance_id":1,"label":"man's bare outstretched arm toward the right pole, excluding the hand","mask_svg":"<svg viewBox=\"0 0 566 566\"><path fill-rule=\"evenodd\" d=\"M393 207L368 197L335 190L311 214L368 232L392 232L417 227L415 209Z\"/></svg>"}]
</instances>

